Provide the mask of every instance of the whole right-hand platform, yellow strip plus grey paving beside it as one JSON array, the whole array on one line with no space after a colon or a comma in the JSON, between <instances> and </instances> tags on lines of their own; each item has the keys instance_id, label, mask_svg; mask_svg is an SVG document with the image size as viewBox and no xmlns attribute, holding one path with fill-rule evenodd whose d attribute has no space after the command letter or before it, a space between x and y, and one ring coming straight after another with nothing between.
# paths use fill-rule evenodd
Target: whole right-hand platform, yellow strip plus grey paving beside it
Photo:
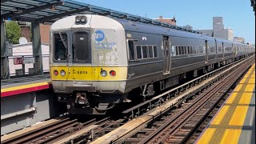
<instances>
[{"instance_id":1,"label":"whole right-hand platform, yellow strip plus grey paving beside it","mask_svg":"<svg viewBox=\"0 0 256 144\"><path fill-rule=\"evenodd\" d=\"M195 143L255 143L255 63Z\"/></svg>"}]
</instances>

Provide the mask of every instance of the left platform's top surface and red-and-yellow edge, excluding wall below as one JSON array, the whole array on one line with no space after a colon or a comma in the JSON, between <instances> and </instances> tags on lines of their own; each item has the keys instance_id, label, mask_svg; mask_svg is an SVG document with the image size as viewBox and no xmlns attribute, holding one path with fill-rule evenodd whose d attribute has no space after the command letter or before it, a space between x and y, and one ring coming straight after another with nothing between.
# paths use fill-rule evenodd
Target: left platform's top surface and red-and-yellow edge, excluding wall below
<instances>
[{"instance_id":1,"label":"left platform's top surface and red-and-yellow edge, excluding wall below","mask_svg":"<svg viewBox=\"0 0 256 144\"><path fill-rule=\"evenodd\" d=\"M49 74L1 80L1 98L37 90L45 90L49 89L50 86Z\"/></svg>"}]
</instances>

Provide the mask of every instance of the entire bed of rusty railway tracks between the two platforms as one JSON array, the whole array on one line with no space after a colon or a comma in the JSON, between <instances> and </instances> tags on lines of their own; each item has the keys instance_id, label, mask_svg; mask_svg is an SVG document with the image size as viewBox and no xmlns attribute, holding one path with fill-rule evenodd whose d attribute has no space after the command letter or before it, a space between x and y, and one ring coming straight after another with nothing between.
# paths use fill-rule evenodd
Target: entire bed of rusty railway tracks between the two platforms
<instances>
[{"instance_id":1,"label":"entire bed of rusty railway tracks between the two platforms","mask_svg":"<svg viewBox=\"0 0 256 144\"><path fill-rule=\"evenodd\" d=\"M236 64L238 62L240 64ZM245 67L235 70L238 65L246 63L248 68L254 56L238 62L125 110L120 118L99 121L94 118L87 122L64 118L1 143L186 142L187 136L197 130L200 122L214 110L216 102L230 89L228 85L242 75L239 72L246 70ZM231 77L232 71L237 76ZM224 80L225 76L230 80ZM219 90L221 92L217 93Z\"/></svg>"}]
</instances>

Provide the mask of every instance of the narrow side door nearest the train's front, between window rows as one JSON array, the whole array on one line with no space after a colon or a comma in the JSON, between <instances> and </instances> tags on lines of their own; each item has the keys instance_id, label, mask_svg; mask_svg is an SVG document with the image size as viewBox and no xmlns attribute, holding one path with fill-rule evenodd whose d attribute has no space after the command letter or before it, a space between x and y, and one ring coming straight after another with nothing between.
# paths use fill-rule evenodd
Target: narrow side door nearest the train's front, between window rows
<instances>
[{"instance_id":1,"label":"narrow side door nearest the train's front, between window rows","mask_svg":"<svg viewBox=\"0 0 256 144\"><path fill-rule=\"evenodd\" d=\"M170 51L169 51L169 37L163 36L163 50L164 50L164 66L163 66L163 74L170 73Z\"/></svg>"}]
</instances>

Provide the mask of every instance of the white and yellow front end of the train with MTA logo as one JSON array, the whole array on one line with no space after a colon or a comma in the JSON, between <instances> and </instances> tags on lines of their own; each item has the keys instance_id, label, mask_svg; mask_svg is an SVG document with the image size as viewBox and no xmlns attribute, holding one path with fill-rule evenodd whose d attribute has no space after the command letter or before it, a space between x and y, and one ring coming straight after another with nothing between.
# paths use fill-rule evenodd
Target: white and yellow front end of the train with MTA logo
<instances>
[{"instance_id":1,"label":"white and yellow front end of the train with MTA logo","mask_svg":"<svg viewBox=\"0 0 256 144\"><path fill-rule=\"evenodd\" d=\"M74 25L75 16L70 16L52 25L50 75L58 100L70 109L89 107L80 110L89 114L94 111L90 107L104 110L125 101L127 58L119 22L98 15L86 18L85 24Z\"/></svg>"}]
</instances>

